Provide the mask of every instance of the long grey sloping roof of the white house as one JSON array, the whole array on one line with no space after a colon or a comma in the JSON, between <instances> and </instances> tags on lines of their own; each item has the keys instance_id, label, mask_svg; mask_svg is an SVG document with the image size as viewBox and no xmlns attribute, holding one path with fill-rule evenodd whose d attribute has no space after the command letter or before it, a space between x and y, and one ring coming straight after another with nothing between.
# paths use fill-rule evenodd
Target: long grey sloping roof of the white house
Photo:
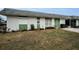
<instances>
[{"instance_id":1,"label":"long grey sloping roof of the white house","mask_svg":"<svg viewBox=\"0 0 79 59\"><path fill-rule=\"evenodd\" d=\"M4 8L0 11L0 14L6 16L32 16L32 17L49 17L49 18L69 18L65 15L59 14L49 14L49 13L41 13L41 12L33 12L33 11L24 11L24 10L17 10L11 8Z\"/></svg>"}]
</instances>

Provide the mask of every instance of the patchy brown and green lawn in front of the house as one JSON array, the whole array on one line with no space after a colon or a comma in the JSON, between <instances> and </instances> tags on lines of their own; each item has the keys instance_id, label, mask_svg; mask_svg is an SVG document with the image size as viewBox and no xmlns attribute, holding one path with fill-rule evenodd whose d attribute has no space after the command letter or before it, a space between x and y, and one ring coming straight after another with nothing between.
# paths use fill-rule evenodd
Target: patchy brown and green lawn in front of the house
<instances>
[{"instance_id":1,"label":"patchy brown and green lawn in front of the house","mask_svg":"<svg viewBox=\"0 0 79 59\"><path fill-rule=\"evenodd\" d=\"M79 49L79 33L51 29L0 34L0 50L64 49Z\"/></svg>"}]
</instances>

